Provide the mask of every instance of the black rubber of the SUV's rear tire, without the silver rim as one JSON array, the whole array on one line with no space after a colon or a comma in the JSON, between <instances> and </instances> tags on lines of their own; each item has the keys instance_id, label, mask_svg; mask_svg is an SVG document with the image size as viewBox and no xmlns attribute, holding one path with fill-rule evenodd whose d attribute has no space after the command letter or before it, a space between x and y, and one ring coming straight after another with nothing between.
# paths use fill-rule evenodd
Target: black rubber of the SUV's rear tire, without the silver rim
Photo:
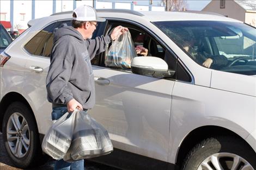
<instances>
[{"instance_id":1,"label":"black rubber of the SUV's rear tire, without the silver rim","mask_svg":"<svg viewBox=\"0 0 256 170\"><path fill-rule=\"evenodd\" d=\"M10 117L12 115L15 116L19 116L19 120L22 122L23 118L25 119L25 121L27 122L26 129L25 128L20 128L20 129L25 129L22 130L23 133L26 133L26 135L24 136L24 134L22 135L22 133L17 133L17 134L9 134L7 133L7 127L8 129L11 129L13 131L15 131L15 126L13 121L11 121ZM9 121L10 119L10 121ZM9 124L8 124L9 121ZM10 128L10 127L14 127L14 128ZM22 126L21 126L22 127ZM8 144L8 138L10 138L10 136L14 136L16 137L20 137L20 140L14 140L11 141L11 144L9 146ZM29 141L29 144L27 145L22 144L22 147L17 147L17 148L22 148L21 152L23 155L18 156L15 155L14 153L16 152L12 152L11 148L14 149L16 147L12 147L12 146L16 146L16 143L18 143L18 141L21 141L21 136L22 136L22 141L24 142L23 139L26 138L26 142ZM24 138L23 138L24 137ZM4 142L4 146L5 149L7 150L7 153L11 159L11 161L14 163L15 166L19 167L19 168L28 168L28 167L32 167L35 165L36 161L39 159L39 157L41 156L41 146L40 146L40 142L39 142L39 135L38 135L38 129L36 126L36 121L33 117L33 113L30 109L28 109L28 107L21 103L21 102L14 102L11 103L5 114L4 114L4 118L3 118L3 142ZM27 151L25 149L25 146L27 146ZM10 148L11 147L11 148ZM14 149L15 150L15 149ZM17 153L18 153L17 152ZM20 157L20 158L19 158Z\"/></svg>"}]
</instances>

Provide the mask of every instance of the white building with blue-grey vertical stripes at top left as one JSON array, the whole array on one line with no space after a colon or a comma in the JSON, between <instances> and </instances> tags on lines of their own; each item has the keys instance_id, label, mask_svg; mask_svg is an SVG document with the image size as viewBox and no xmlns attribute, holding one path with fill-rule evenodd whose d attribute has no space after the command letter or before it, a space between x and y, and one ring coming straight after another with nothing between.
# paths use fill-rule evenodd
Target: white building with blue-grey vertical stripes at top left
<instances>
[{"instance_id":1,"label":"white building with blue-grey vertical stripes at top left","mask_svg":"<svg viewBox=\"0 0 256 170\"><path fill-rule=\"evenodd\" d=\"M64 1L64 0L7 0L0 1L0 21L11 23L11 28L7 30L13 32L27 29L27 23L34 18L49 16L56 12L70 11L76 8L76 5L93 6L93 0L89 1Z\"/></svg>"}]
</instances>

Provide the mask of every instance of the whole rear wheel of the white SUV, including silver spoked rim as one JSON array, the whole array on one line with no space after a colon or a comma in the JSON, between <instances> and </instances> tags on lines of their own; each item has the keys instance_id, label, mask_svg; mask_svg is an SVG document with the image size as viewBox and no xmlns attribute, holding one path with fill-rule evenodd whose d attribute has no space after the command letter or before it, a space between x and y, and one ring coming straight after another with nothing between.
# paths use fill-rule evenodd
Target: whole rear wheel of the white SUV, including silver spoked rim
<instances>
[{"instance_id":1,"label":"whole rear wheel of the white SUV, including silver spoked rim","mask_svg":"<svg viewBox=\"0 0 256 170\"><path fill-rule=\"evenodd\" d=\"M3 118L3 142L15 166L34 166L41 156L38 129L33 113L21 102L10 104Z\"/></svg>"}]
</instances>

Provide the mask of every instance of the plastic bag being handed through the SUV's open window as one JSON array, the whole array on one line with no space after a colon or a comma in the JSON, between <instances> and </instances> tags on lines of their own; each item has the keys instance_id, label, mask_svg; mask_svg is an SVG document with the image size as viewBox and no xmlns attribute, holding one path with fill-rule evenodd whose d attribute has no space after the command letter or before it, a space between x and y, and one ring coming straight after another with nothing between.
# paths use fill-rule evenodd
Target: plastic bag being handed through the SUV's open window
<instances>
[{"instance_id":1,"label":"plastic bag being handed through the SUV's open window","mask_svg":"<svg viewBox=\"0 0 256 170\"><path fill-rule=\"evenodd\" d=\"M106 54L106 66L131 68L131 60L137 54L129 30L113 41Z\"/></svg>"}]
</instances>

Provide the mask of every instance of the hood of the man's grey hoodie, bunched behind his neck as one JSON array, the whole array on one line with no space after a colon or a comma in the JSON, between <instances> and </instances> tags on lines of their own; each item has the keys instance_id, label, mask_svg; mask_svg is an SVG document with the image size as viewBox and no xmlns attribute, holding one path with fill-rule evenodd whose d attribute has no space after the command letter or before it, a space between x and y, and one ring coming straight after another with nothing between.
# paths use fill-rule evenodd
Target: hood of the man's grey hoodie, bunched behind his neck
<instances>
[{"instance_id":1,"label":"hood of the man's grey hoodie, bunched behind his neck","mask_svg":"<svg viewBox=\"0 0 256 170\"><path fill-rule=\"evenodd\" d=\"M60 28L55 29L53 35L53 43L65 35L71 35L76 37L78 40L84 41L83 36L74 27L67 26L66 24L62 24Z\"/></svg>"}]
</instances>

